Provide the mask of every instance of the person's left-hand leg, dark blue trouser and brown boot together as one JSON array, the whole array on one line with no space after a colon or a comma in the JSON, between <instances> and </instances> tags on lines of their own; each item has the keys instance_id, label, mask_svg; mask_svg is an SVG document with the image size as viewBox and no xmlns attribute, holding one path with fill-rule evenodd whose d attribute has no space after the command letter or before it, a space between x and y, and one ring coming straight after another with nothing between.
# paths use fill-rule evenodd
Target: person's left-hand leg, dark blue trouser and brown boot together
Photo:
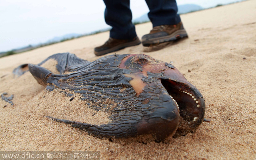
<instances>
[{"instance_id":1,"label":"person's left-hand leg, dark blue trouser and brown boot together","mask_svg":"<svg viewBox=\"0 0 256 160\"><path fill-rule=\"evenodd\" d=\"M112 27L109 39L103 45L94 48L97 56L139 45L135 26L132 24L132 11L129 0L104 0L106 4L105 21Z\"/></svg>"}]
</instances>

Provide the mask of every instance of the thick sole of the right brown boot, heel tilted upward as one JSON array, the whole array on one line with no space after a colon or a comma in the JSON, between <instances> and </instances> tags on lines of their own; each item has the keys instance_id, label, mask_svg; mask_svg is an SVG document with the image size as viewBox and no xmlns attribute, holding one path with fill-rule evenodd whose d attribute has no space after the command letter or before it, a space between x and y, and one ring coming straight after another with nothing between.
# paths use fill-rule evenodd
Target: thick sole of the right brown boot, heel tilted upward
<instances>
[{"instance_id":1,"label":"thick sole of the right brown boot, heel tilted upward","mask_svg":"<svg viewBox=\"0 0 256 160\"><path fill-rule=\"evenodd\" d=\"M156 44L159 44L159 43L176 41L178 39L185 38L185 37L188 37L188 34L187 34L186 30L185 29L180 29L180 30L177 30L177 31L173 32L170 35L167 35L167 36L151 38L151 39L148 39L148 40L142 40L142 45L145 46L145 47L148 47L152 44L156 45Z\"/></svg>"}]
</instances>

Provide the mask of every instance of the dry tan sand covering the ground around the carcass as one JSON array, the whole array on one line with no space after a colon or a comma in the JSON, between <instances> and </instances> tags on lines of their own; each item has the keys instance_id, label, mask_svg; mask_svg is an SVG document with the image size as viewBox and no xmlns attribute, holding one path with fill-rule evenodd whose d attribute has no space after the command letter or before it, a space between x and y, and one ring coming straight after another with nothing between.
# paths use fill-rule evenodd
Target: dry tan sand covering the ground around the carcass
<instances>
[{"instance_id":1,"label":"dry tan sand covering the ground around the carcass","mask_svg":"<svg viewBox=\"0 0 256 160\"><path fill-rule=\"evenodd\" d=\"M103 113L90 118L94 111L78 97L71 104L69 97L47 92L29 72L13 78L12 70L62 52L96 60L93 48L108 39L105 32L0 58L0 94L14 94L14 106L0 100L0 150L100 150L102 159L256 159L256 0L184 14L181 19L188 39L158 51L143 52L146 49L139 45L116 54L146 53L171 62L200 90L205 118L211 122L167 143L143 144L98 139L45 118L108 121ZM138 36L151 27L136 25Z\"/></svg>"}]
</instances>

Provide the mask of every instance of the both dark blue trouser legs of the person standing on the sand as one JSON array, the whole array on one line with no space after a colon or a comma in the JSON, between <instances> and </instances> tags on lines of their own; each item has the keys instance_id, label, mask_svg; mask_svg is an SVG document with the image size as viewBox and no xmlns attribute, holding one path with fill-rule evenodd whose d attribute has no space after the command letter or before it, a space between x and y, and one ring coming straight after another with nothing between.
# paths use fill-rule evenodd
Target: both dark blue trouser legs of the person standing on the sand
<instances>
[{"instance_id":1,"label":"both dark blue trouser legs of the person standing on the sand","mask_svg":"<svg viewBox=\"0 0 256 160\"><path fill-rule=\"evenodd\" d=\"M137 36L132 24L130 0L103 0L105 21L112 27L110 37L115 39L133 39ZM146 0L149 8L148 18L153 27L160 25L174 25L180 22L177 14L178 7L175 0Z\"/></svg>"}]
</instances>

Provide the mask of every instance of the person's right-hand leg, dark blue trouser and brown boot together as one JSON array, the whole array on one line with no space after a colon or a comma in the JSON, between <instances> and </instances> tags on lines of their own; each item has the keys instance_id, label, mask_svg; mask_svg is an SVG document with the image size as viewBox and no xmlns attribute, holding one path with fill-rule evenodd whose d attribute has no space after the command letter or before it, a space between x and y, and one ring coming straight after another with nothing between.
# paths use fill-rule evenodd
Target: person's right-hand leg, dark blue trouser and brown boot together
<instances>
[{"instance_id":1,"label":"person's right-hand leg, dark blue trouser and brown boot together","mask_svg":"<svg viewBox=\"0 0 256 160\"><path fill-rule=\"evenodd\" d=\"M153 24L149 34L143 35L143 46L157 45L188 37L186 30L177 14L175 0L146 0L149 8L148 18Z\"/></svg>"}]
</instances>

